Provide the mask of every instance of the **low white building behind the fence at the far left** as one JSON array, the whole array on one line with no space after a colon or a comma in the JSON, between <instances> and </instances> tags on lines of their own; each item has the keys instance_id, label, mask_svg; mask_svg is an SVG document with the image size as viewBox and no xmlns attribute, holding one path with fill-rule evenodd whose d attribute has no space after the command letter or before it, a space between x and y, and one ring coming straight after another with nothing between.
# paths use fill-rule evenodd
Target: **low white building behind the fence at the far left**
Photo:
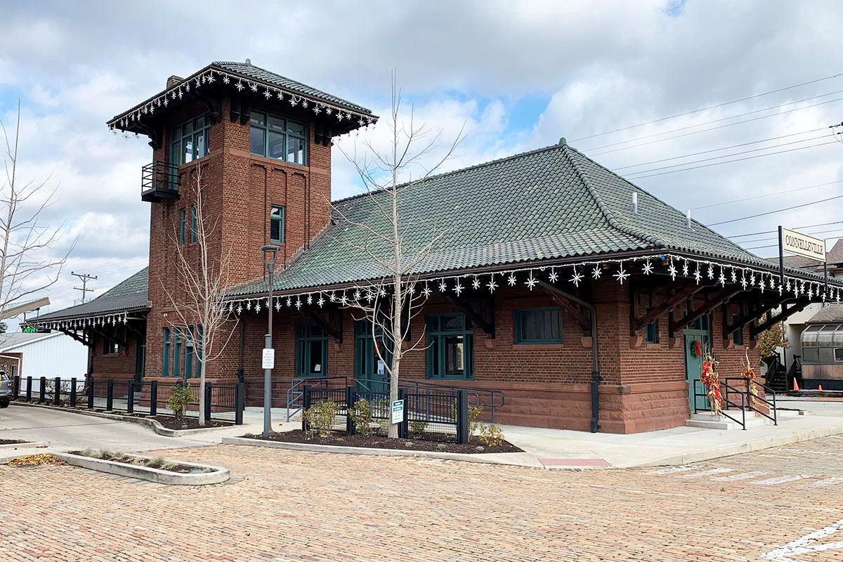
<instances>
[{"instance_id":1,"label":"low white building behind the fence at the far left","mask_svg":"<svg viewBox=\"0 0 843 562\"><path fill-rule=\"evenodd\" d=\"M88 348L61 332L0 334L0 367L9 375L84 379L88 371ZM21 385L23 388L23 383Z\"/></svg>"}]
</instances>

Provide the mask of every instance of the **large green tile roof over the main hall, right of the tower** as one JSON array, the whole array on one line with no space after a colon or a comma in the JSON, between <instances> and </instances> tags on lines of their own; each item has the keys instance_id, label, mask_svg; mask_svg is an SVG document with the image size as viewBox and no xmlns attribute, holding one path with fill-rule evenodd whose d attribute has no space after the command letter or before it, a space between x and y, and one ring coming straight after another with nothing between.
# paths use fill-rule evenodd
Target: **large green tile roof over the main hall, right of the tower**
<instances>
[{"instance_id":1,"label":"large green tile roof over the main hall, right of the tower","mask_svg":"<svg viewBox=\"0 0 843 562\"><path fill-rule=\"evenodd\" d=\"M443 232L432 254L412 272L492 268L628 251L675 251L703 259L772 269L700 222L689 229L685 213L566 145L517 154L441 174L399 188L406 239L421 247ZM638 193L638 214L632 193ZM386 201L388 195L374 195ZM336 223L276 277L289 291L376 279L384 270L360 249L365 223L386 232L389 222L368 195L335 201ZM347 221L343 219L347 217ZM370 240L379 255L385 244ZM805 274L805 272L801 272ZM235 287L231 294L266 290L265 281Z\"/></svg>"}]
</instances>

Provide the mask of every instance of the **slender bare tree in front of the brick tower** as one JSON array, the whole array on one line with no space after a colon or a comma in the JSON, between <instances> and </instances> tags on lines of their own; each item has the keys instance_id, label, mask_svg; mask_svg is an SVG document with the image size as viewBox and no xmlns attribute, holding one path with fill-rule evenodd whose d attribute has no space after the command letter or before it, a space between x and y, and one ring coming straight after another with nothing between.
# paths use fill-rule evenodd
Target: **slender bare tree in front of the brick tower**
<instances>
[{"instance_id":1,"label":"slender bare tree in front of the brick tower","mask_svg":"<svg viewBox=\"0 0 843 562\"><path fill-rule=\"evenodd\" d=\"M191 345L196 351L200 369L199 425L204 426L207 366L223 354L237 321L232 320L223 302L228 287L231 253L223 253L220 249L220 257L214 255L211 241L216 239L213 233L220 226L219 215L211 216L207 211L201 176L201 167L197 166L185 192L185 200L195 201L195 204L185 208L184 227L175 225L171 237L175 246L175 282L167 285L162 280L161 286L175 311L175 316L167 318L170 328L180 333L185 345ZM182 236L190 237L190 244ZM227 324L228 335L225 335L223 329Z\"/></svg>"}]
</instances>

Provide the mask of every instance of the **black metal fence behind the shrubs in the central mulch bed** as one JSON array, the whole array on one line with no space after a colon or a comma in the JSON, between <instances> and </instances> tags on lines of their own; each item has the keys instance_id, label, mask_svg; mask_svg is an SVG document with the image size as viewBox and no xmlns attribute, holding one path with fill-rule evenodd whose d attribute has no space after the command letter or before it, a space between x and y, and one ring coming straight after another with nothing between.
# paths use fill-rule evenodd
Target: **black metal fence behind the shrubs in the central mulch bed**
<instances>
[{"instance_id":1,"label":"black metal fence behind the shrubs in the central mulch bed","mask_svg":"<svg viewBox=\"0 0 843 562\"><path fill-rule=\"evenodd\" d=\"M369 428L385 436L392 422L393 404L389 392L361 389L358 386L330 388L326 385L303 387L303 409L327 400L336 404L332 423L334 431L353 435L357 430L352 413L358 400L365 399L372 409ZM403 401L403 415L398 425L402 439L469 442L469 393L462 388L399 388L398 399ZM308 429L307 416L302 416L302 429Z\"/></svg>"}]
</instances>

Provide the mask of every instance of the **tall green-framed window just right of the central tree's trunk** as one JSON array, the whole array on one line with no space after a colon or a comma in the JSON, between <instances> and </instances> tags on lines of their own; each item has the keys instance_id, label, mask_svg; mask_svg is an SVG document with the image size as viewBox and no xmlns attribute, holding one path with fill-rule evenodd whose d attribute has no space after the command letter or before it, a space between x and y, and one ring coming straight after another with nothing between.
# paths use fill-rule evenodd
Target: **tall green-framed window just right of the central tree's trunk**
<instances>
[{"instance_id":1,"label":"tall green-framed window just right of the central tree's trunk","mask_svg":"<svg viewBox=\"0 0 843 562\"><path fill-rule=\"evenodd\" d=\"M473 378L474 330L465 314L431 314L426 323L427 378Z\"/></svg>"}]
</instances>

